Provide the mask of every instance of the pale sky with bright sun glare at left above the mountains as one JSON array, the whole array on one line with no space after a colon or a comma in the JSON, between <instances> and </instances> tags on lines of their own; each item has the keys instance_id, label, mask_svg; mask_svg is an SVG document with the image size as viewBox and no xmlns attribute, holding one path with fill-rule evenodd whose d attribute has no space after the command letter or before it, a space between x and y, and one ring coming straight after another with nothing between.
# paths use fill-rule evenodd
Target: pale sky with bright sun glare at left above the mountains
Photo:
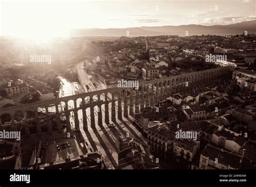
<instances>
[{"instance_id":1,"label":"pale sky with bright sun glare at left above the mountains","mask_svg":"<svg viewBox=\"0 0 256 187\"><path fill-rule=\"evenodd\" d=\"M256 0L0 0L0 35L68 37L73 28L227 25L256 20Z\"/></svg>"}]
</instances>

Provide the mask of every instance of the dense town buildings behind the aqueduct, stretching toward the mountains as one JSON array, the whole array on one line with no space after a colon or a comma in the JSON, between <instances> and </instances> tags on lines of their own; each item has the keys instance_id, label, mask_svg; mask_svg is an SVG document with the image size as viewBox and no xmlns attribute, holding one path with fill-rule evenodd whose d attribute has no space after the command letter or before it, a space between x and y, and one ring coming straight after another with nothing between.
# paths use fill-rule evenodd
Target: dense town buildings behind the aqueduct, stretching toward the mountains
<instances>
[{"instance_id":1,"label":"dense town buildings behind the aqueduct, stretching toward the mountains","mask_svg":"<svg viewBox=\"0 0 256 187\"><path fill-rule=\"evenodd\" d=\"M255 34L122 37L114 44L130 42L142 44L144 47L123 48L118 52L101 56L100 62L107 67L99 70L100 79L107 87L113 87L111 82L116 82L120 78L147 81L188 73L192 68L190 64L196 62L230 66L232 70L246 69L255 61L255 38ZM173 63L186 63L190 68L170 68Z\"/></svg>"}]
</instances>

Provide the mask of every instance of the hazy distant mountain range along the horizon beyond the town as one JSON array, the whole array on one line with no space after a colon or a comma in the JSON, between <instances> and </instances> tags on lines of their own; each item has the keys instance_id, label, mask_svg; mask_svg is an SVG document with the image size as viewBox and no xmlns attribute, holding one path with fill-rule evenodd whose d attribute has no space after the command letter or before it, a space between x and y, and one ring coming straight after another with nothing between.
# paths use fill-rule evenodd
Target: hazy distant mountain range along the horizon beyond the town
<instances>
[{"instance_id":1,"label":"hazy distant mountain range along the horizon beyond the town","mask_svg":"<svg viewBox=\"0 0 256 187\"><path fill-rule=\"evenodd\" d=\"M122 37L129 31L130 37L152 36L152 35L228 35L256 32L256 20L243 21L241 23L230 25L180 25L180 26L144 26L128 28L83 28L71 31L71 37Z\"/></svg>"}]
</instances>

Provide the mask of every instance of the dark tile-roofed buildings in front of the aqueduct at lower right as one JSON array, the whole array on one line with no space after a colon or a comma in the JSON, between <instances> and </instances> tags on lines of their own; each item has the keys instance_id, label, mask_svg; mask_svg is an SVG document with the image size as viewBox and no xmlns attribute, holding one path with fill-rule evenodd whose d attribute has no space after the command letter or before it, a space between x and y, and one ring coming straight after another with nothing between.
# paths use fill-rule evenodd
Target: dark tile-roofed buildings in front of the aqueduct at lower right
<instances>
[{"instance_id":1,"label":"dark tile-roofed buildings in front of the aqueduct at lower right","mask_svg":"<svg viewBox=\"0 0 256 187\"><path fill-rule=\"evenodd\" d=\"M256 154L256 92L232 92L223 83L194 93L175 93L134 114L153 155L166 162L170 155L181 157L191 169L255 168L255 159L245 155ZM196 132L196 140L177 139L180 130Z\"/></svg>"}]
</instances>

